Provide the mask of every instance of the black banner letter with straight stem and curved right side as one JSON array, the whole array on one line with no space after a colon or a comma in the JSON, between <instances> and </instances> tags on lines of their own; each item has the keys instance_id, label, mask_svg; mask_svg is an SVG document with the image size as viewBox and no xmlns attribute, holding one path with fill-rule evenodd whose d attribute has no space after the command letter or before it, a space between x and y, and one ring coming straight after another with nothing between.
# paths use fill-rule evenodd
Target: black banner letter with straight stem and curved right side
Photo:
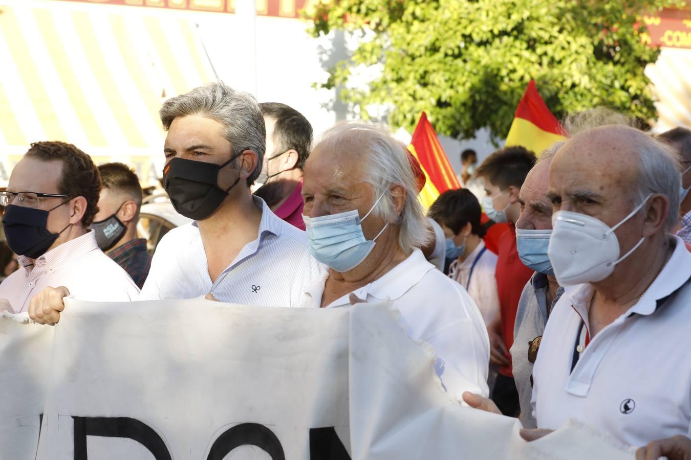
<instances>
[{"instance_id":1,"label":"black banner letter with straight stem and curved right side","mask_svg":"<svg viewBox=\"0 0 691 460\"><path fill-rule=\"evenodd\" d=\"M75 419L75 460L88 460L86 437L129 438L137 441L156 460L171 460L166 443L150 426L129 417L72 417Z\"/></svg>"}]
</instances>

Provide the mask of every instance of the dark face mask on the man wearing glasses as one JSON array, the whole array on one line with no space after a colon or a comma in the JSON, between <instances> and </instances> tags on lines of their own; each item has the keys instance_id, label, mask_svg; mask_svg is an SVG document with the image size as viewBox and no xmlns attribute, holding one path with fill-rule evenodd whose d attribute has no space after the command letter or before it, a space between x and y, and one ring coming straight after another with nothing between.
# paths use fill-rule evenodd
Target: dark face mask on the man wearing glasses
<instances>
[{"instance_id":1,"label":"dark face mask on the man wearing glasses","mask_svg":"<svg viewBox=\"0 0 691 460\"><path fill-rule=\"evenodd\" d=\"M59 208L65 203L67 201L60 203L55 208ZM50 233L46 225L48 223L48 212L53 209L46 211L36 208L23 208L13 204L5 208L2 223L5 229L5 237L7 238L7 246L10 246L12 252L30 259L38 259L46 253L48 248L55 243L57 237L67 227L72 225L71 223L68 224L67 227L58 233Z\"/></svg>"}]
</instances>

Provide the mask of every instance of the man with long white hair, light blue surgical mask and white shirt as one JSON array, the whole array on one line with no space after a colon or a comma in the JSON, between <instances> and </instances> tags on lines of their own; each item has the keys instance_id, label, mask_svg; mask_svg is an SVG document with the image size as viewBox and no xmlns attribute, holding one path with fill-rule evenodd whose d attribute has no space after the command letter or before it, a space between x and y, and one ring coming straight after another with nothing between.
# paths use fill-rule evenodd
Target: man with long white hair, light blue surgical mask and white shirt
<instances>
[{"instance_id":1,"label":"man with long white hair, light blue surgical mask and white shirt","mask_svg":"<svg viewBox=\"0 0 691 460\"><path fill-rule=\"evenodd\" d=\"M335 308L390 299L408 335L437 352L437 374L457 400L486 396L489 341L468 293L425 260L428 227L406 148L382 128L342 124L305 163L310 251L329 267L301 306Z\"/></svg>"}]
</instances>

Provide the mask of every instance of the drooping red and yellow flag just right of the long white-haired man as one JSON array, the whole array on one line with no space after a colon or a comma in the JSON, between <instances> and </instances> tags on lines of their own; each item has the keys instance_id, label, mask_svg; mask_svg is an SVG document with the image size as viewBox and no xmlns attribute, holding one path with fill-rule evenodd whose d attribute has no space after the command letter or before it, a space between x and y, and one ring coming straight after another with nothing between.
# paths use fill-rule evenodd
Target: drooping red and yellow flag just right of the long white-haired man
<instances>
[{"instance_id":1,"label":"drooping red and yellow flag just right of the long white-haired man","mask_svg":"<svg viewBox=\"0 0 691 460\"><path fill-rule=\"evenodd\" d=\"M417 122L408 150L417 159L425 174L425 185L419 195L425 208L432 206L439 194L446 190L460 188L442 144L439 143L437 133L425 112L422 112Z\"/></svg>"}]
</instances>

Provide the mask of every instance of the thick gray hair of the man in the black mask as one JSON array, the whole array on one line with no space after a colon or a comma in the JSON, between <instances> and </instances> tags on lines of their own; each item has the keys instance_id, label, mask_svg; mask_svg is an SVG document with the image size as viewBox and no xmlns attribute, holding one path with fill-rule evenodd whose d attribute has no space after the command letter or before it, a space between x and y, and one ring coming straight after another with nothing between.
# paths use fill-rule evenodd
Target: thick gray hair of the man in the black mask
<instances>
[{"instance_id":1,"label":"thick gray hair of the man in the black mask","mask_svg":"<svg viewBox=\"0 0 691 460\"><path fill-rule=\"evenodd\" d=\"M257 156L257 166L247 177L251 186L261 173L266 128L264 117L256 99L247 92L236 91L224 83L210 83L194 88L186 94L171 97L163 103L158 114L167 131L173 120L188 115L200 115L223 125L223 137L230 143L231 156L252 150Z\"/></svg>"}]
</instances>

